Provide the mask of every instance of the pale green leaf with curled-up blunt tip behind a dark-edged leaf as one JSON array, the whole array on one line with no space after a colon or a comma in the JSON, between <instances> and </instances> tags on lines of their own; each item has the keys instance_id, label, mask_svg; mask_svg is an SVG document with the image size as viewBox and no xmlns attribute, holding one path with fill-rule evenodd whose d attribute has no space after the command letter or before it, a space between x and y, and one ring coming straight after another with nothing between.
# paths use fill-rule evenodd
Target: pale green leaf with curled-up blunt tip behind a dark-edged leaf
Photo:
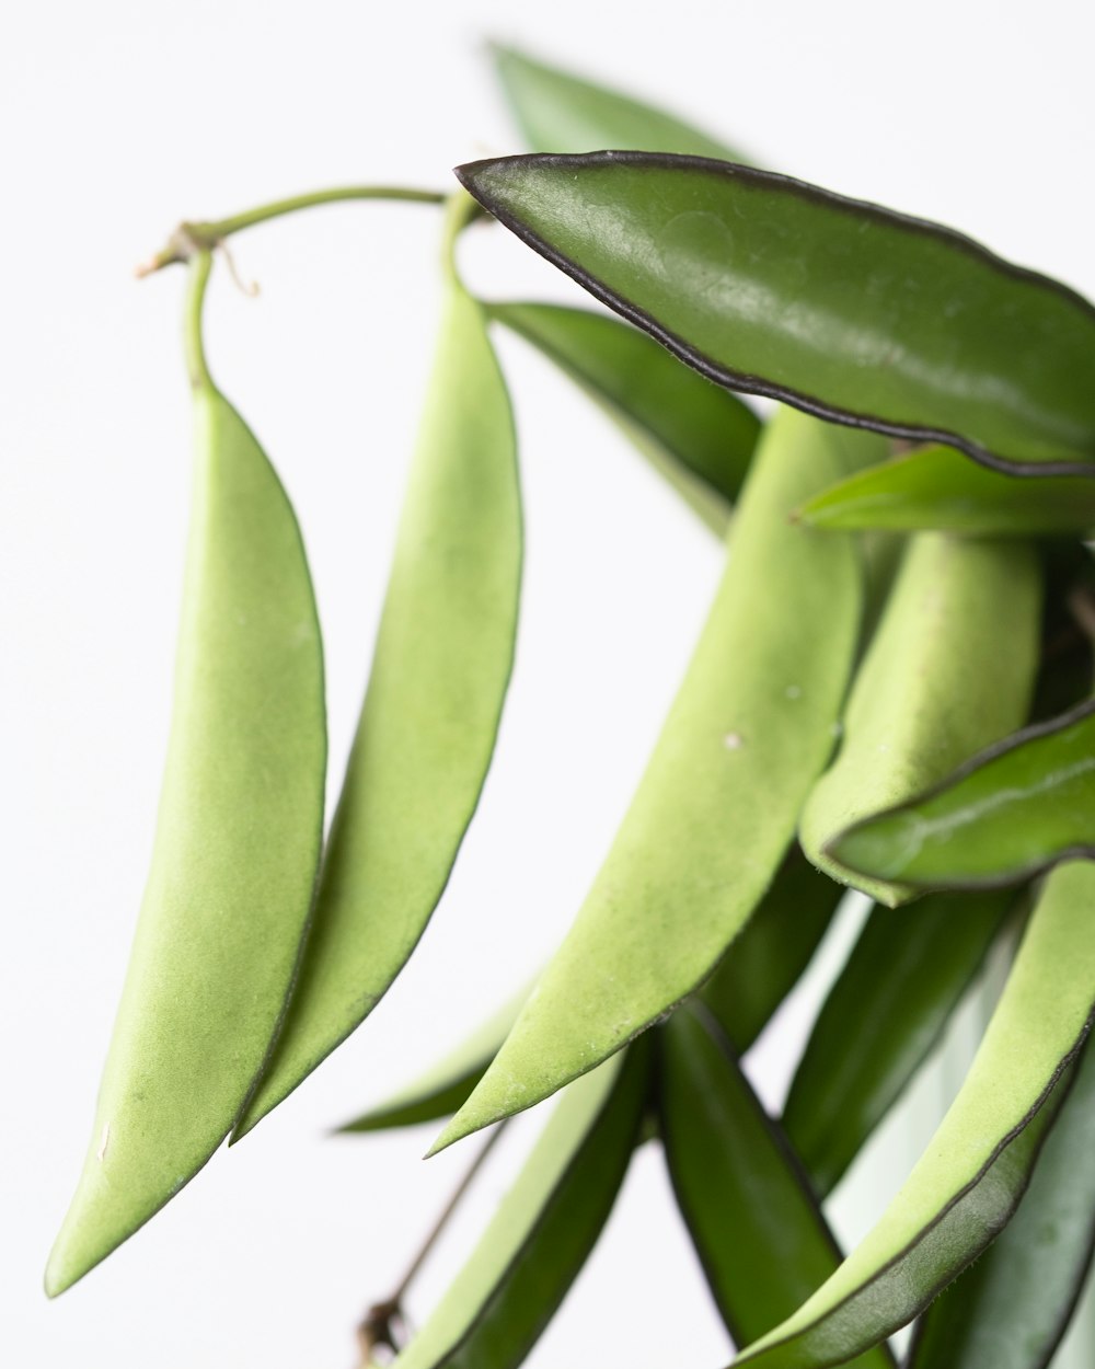
<instances>
[{"instance_id":1,"label":"pale green leaf with curled-up blunt tip behind a dark-edged leaf","mask_svg":"<svg viewBox=\"0 0 1095 1369\"><path fill-rule=\"evenodd\" d=\"M907 884L865 879L827 843L866 813L938 783L1027 717L1038 668L1040 576L1025 543L921 533L855 678L840 752L802 813L806 854L883 904Z\"/></svg>"}]
</instances>

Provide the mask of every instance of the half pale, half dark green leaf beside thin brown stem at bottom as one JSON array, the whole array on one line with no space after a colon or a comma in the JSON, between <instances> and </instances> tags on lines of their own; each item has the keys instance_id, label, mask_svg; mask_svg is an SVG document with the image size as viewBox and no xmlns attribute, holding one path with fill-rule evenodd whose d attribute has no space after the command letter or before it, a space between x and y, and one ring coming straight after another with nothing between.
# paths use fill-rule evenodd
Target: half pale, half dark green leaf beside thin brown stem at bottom
<instances>
[{"instance_id":1,"label":"half pale, half dark green leaf beside thin brown stem at bottom","mask_svg":"<svg viewBox=\"0 0 1095 1369\"><path fill-rule=\"evenodd\" d=\"M639 1135L642 1043L563 1097L494 1220L400 1369L512 1369L521 1362L608 1220Z\"/></svg>"}]
</instances>

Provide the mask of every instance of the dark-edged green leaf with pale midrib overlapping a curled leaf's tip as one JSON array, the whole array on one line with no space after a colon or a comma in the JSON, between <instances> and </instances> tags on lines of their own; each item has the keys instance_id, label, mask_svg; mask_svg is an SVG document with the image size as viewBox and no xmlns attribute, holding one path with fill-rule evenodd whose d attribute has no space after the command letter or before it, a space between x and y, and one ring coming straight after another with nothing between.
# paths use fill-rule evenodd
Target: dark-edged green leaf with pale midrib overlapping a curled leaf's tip
<instances>
[{"instance_id":1,"label":"dark-edged green leaf with pale midrib overlapping a curled leaf's tip","mask_svg":"<svg viewBox=\"0 0 1095 1369\"><path fill-rule=\"evenodd\" d=\"M1095 854L1095 704L988 747L938 789L840 832L829 854L869 878L970 888Z\"/></svg>"}]
</instances>

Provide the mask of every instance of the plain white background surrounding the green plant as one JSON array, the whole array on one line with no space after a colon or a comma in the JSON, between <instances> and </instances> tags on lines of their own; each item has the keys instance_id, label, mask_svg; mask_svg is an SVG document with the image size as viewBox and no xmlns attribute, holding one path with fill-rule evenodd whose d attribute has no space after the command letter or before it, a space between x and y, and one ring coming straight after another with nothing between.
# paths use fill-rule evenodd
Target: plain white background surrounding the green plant
<instances>
[{"instance_id":1,"label":"plain white background surrounding the green plant","mask_svg":"<svg viewBox=\"0 0 1095 1369\"><path fill-rule=\"evenodd\" d=\"M148 858L189 490L182 277L133 266L183 216L353 181L448 186L516 151L482 40L667 103L758 160L942 218L1095 293L1085 0L1029 4L312 0L12 5L0 33L0 1358L346 1369L465 1164L427 1132L328 1139L443 1051L560 936L687 660L719 550L516 345L524 617L497 764L450 893L367 1027L59 1302L40 1270L86 1142ZM349 743L431 349L437 215L324 209L240 237L211 360L297 504ZM483 292L576 292L501 230ZM784 1028L794 1038L791 1012ZM777 1092L790 1047L769 1043ZM768 1062L765 1066L765 1061ZM521 1136L515 1138L517 1147ZM513 1149L513 1147L511 1147ZM892 1183L891 1177L887 1183ZM497 1197L487 1179L456 1238ZM849 1217L854 1223L858 1218ZM419 1313L445 1277L423 1281ZM612 1268L610 1268L612 1266ZM619 1277L624 1268L627 1277ZM714 1366L727 1343L643 1154L537 1364Z\"/></svg>"}]
</instances>

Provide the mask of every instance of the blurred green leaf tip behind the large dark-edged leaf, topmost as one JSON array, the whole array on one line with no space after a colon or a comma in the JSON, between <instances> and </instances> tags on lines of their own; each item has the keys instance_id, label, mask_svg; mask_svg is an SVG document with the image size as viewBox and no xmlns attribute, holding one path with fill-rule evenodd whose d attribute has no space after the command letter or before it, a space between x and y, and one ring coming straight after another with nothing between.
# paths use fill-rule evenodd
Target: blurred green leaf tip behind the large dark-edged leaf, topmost
<instances>
[{"instance_id":1,"label":"blurred green leaf tip behind the large dark-edged leaf, topmost","mask_svg":"<svg viewBox=\"0 0 1095 1369\"><path fill-rule=\"evenodd\" d=\"M646 148L743 160L690 123L617 90L549 67L513 48L491 48L494 68L524 141L537 152Z\"/></svg>"}]
</instances>

